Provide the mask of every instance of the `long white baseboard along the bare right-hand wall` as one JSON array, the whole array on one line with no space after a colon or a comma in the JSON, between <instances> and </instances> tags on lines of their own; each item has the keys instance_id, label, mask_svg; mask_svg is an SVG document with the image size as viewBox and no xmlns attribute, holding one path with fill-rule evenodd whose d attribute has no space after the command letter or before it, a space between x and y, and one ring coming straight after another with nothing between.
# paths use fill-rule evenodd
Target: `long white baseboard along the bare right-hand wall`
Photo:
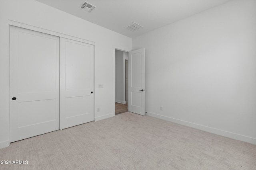
<instances>
[{"instance_id":1,"label":"long white baseboard along the bare right-hand wall","mask_svg":"<svg viewBox=\"0 0 256 170\"><path fill-rule=\"evenodd\" d=\"M191 123L191 122L188 122L188 121L183 121L183 120L175 119L175 118L172 118L172 117L158 115L156 113L150 113L148 111L146 111L145 115L156 117L156 118L163 119L163 120L166 120L166 121L171 121L171 122L174 122L174 123L178 123L180 125L185 125L185 126L188 126L188 127L193 127L195 129L199 129L199 130L202 130L202 131L214 133L216 135L221 135L221 136L224 136L224 137L229 137L229 138L232 138L232 139L236 139L236 140L239 140L239 141L244 141L244 142L256 145L256 139L252 138L252 137L248 137L248 136L244 136L244 135L239 135L239 134L236 134L236 133L232 133L232 132L228 132L228 131L223 131L223 130L220 130L220 129L215 129L215 128L212 128L212 127L207 127L207 126L204 126L204 125L199 125L199 124L196 124L196 123Z\"/></svg>"}]
</instances>

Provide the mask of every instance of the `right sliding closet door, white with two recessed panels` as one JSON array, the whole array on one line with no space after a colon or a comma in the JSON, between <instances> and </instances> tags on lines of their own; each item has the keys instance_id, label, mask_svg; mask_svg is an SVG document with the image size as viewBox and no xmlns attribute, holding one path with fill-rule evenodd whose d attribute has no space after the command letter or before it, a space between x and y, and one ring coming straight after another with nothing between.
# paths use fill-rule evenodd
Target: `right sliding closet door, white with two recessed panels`
<instances>
[{"instance_id":1,"label":"right sliding closet door, white with two recessed panels","mask_svg":"<svg viewBox=\"0 0 256 170\"><path fill-rule=\"evenodd\" d=\"M94 120L94 45L60 38L60 129Z\"/></svg>"}]
</instances>

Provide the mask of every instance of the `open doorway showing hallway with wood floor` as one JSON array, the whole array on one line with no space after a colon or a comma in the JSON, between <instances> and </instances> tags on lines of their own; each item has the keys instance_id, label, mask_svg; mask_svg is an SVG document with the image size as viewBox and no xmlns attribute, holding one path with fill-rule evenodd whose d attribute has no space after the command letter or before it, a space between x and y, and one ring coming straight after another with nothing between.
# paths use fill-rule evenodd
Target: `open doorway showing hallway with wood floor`
<instances>
[{"instance_id":1,"label":"open doorway showing hallway with wood floor","mask_svg":"<svg viewBox=\"0 0 256 170\"><path fill-rule=\"evenodd\" d=\"M115 49L115 115L128 111L128 52Z\"/></svg>"}]
</instances>

